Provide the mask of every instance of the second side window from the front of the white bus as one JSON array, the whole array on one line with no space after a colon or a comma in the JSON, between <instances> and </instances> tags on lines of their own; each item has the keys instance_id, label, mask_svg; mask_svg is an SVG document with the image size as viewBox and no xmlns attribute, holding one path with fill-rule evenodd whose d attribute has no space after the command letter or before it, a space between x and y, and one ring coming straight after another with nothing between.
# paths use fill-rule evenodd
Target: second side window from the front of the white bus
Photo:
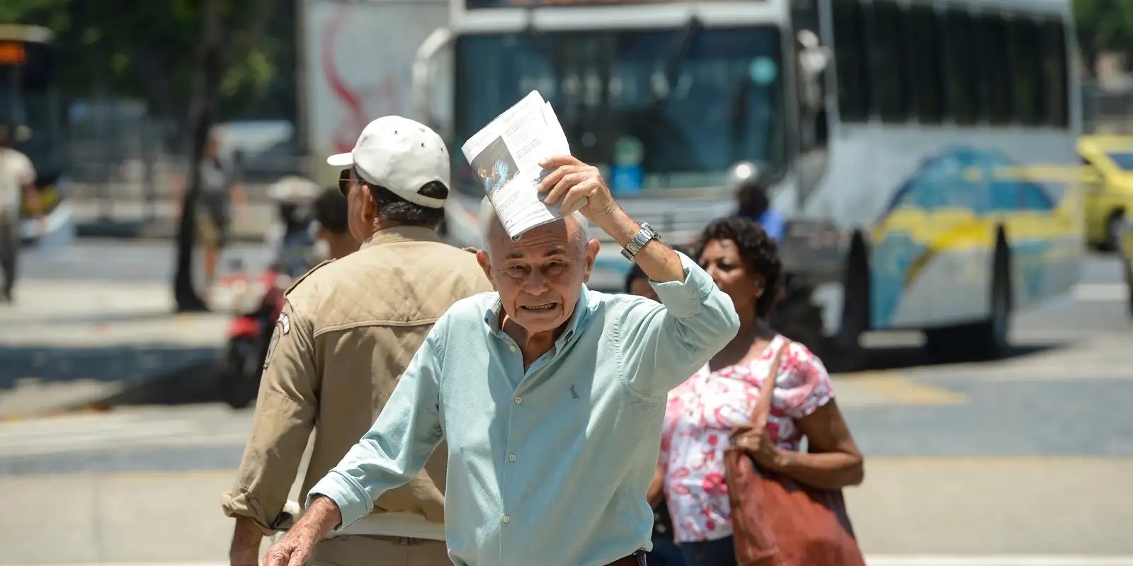
<instances>
[{"instance_id":1,"label":"second side window from the front of the white bus","mask_svg":"<svg viewBox=\"0 0 1133 566\"><path fill-rule=\"evenodd\" d=\"M909 48L905 11L891 1L874 2L874 85L881 120L903 122L912 106L909 92Z\"/></svg>"}]
</instances>

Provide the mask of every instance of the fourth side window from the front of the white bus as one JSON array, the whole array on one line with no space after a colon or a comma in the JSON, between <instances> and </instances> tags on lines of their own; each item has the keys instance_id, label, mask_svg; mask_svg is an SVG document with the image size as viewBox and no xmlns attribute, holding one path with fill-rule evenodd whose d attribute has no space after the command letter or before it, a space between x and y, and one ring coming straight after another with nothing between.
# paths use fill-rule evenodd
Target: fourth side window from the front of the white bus
<instances>
[{"instance_id":1,"label":"fourth side window from the front of the white bus","mask_svg":"<svg viewBox=\"0 0 1133 566\"><path fill-rule=\"evenodd\" d=\"M977 59L973 43L972 18L964 10L949 8L944 16L945 43L948 60L948 109L960 125L972 125L983 115L980 110Z\"/></svg>"}]
</instances>

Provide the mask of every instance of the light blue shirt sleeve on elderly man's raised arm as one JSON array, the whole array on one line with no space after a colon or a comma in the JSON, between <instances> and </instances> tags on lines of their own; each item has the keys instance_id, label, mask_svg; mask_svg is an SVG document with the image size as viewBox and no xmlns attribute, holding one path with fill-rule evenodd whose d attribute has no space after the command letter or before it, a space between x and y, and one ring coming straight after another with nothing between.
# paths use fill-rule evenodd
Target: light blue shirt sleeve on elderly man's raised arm
<instances>
[{"instance_id":1,"label":"light blue shirt sleeve on elderly man's raised arm","mask_svg":"<svg viewBox=\"0 0 1133 566\"><path fill-rule=\"evenodd\" d=\"M692 259L678 255L684 281L651 282L661 305L632 299L614 325L622 377L645 398L663 398L740 329L732 299Z\"/></svg>"}]
</instances>

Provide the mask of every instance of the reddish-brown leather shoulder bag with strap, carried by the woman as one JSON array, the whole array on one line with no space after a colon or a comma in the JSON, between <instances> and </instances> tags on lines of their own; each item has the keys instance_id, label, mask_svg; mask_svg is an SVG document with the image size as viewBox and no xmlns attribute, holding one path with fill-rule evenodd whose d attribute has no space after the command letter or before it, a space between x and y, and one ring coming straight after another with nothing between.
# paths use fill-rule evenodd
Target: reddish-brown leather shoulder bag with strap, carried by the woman
<instances>
[{"instance_id":1,"label":"reddish-brown leather shoulder bag with strap, carried by the woman","mask_svg":"<svg viewBox=\"0 0 1133 566\"><path fill-rule=\"evenodd\" d=\"M751 422L767 431L787 342L775 354ZM724 453L738 566L866 566L842 490L818 489L759 468L741 448Z\"/></svg>"}]
</instances>

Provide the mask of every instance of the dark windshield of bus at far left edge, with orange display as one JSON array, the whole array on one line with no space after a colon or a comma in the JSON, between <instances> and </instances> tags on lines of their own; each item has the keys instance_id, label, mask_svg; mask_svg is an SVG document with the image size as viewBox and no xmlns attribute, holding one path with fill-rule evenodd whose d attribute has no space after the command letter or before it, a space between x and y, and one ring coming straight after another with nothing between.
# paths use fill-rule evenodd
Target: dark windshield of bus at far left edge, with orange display
<instances>
[{"instance_id":1,"label":"dark windshield of bus at far left edge, with orange display","mask_svg":"<svg viewBox=\"0 0 1133 566\"><path fill-rule=\"evenodd\" d=\"M0 120L26 128L15 147L32 160L36 180L50 182L62 169L52 48L35 41L0 44L9 55L0 61Z\"/></svg>"}]
</instances>

